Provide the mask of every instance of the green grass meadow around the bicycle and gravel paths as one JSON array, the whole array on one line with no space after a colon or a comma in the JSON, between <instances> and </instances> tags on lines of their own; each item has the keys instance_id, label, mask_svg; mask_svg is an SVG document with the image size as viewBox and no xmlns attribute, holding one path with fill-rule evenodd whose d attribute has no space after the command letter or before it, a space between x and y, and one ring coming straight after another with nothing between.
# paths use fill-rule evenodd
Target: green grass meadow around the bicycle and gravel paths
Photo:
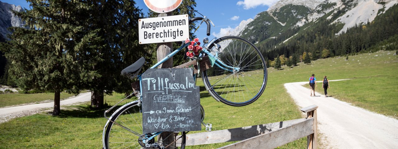
<instances>
[{"instance_id":1,"label":"green grass meadow around the bicycle and gravel paths","mask_svg":"<svg viewBox=\"0 0 398 149\"><path fill-rule=\"evenodd\" d=\"M315 74L318 80L324 75L327 75L329 80L351 79L330 82L329 95L355 106L397 118L398 58L396 55L393 56L394 52L359 54L349 56L347 61L345 57L326 58L313 61L310 65L299 63L294 68L283 67L283 70L269 68L267 87L263 95L256 102L242 107L216 102L203 91L203 83L198 80L197 83L201 86L201 104L206 114L205 122L213 124L215 131L303 118L300 107L291 99L283 84L308 81L311 74ZM319 84L317 91L322 93L322 86ZM117 93L105 96L109 105L121 99L123 95ZM135 99L125 102L133 100ZM61 107L64 109L61 110L60 116L40 113L0 124L0 149L101 148L101 135L106 122L103 118L105 109L93 109L89 104ZM200 132L205 131L203 126L202 129ZM213 149L230 143L232 142L187 146L187 149ZM279 148L305 147L306 138L302 138Z\"/></svg>"}]
</instances>

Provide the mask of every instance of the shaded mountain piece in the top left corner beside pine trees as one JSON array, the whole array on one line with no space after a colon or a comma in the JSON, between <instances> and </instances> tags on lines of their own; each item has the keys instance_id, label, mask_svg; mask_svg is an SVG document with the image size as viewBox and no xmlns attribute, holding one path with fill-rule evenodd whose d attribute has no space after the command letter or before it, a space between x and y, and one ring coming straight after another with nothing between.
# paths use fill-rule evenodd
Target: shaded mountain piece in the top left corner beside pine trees
<instances>
[{"instance_id":1,"label":"shaded mountain piece in the top left corner beside pine trees","mask_svg":"<svg viewBox=\"0 0 398 149\"><path fill-rule=\"evenodd\" d=\"M25 23L20 18L12 14L11 10L21 12L21 6L15 6L0 1L0 39L7 39L7 34L11 33L8 27L23 27Z\"/></svg>"}]
</instances>

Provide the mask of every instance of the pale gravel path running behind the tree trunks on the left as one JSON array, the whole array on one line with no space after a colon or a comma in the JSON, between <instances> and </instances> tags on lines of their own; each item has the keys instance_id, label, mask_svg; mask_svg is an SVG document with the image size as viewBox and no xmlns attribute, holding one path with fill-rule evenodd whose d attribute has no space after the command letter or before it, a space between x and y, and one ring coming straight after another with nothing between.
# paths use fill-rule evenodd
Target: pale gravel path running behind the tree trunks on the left
<instances>
[{"instance_id":1,"label":"pale gravel path running behind the tree trunks on the left","mask_svg":"<svg viewBox=\"0 0 398 149\"><path fill-rule=\"evenodd\" d=\"M91 92L79 94L76 97L60 101L61 108L65 105L72 105L78 103L85 103L91 100ZM54 102L29 104L23 106L13 106L8 108L0 108L0 123L7 122L8 120L16 117L27 116L36 114L43 111L43 108L54 108Z\"/></svg>"}]
</instances>

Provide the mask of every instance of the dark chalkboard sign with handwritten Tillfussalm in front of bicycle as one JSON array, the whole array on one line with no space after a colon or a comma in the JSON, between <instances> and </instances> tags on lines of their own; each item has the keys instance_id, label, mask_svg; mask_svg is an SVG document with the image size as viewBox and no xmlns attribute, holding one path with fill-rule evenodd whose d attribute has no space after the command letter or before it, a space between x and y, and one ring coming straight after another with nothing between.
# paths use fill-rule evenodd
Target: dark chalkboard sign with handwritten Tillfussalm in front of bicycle
<instances>
[{"instance_id":1,"label":"dark chalkboard sign with handwritten Tillfussalm in front of bicycle","mask_svg":"<svg viewBox=\"0 0 398 149\"><path fill-rule=\"evenodd\" d=\"M142 130L201 130L200 94L192 68L148 69L142 74Z\"/></svg>"}]
</instances>

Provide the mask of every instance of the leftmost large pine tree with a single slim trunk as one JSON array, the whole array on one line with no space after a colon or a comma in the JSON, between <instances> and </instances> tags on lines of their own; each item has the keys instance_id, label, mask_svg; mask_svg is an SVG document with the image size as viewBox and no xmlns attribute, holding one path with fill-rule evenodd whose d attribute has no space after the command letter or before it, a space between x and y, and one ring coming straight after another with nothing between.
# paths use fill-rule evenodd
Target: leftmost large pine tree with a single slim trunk
<instances>
[{"instance_id":1,"label":"leftmost large pine tree with a single slim trunk","mask_svg":"<svg viewBox=\"0 0 398 149\"><path fill-rule=\"evenodd\" d=\"M79 16L80 2L30 0L31 10L14 12L30 28L11 28L10 41L2 46L11 62L10 76L24 90L54 92L53 115L60 114L60 92L78 94L80 74L74 45L81 28L70 20ZM80 16L79 16L80 17Z\"/></svg>"}]
</instances>

